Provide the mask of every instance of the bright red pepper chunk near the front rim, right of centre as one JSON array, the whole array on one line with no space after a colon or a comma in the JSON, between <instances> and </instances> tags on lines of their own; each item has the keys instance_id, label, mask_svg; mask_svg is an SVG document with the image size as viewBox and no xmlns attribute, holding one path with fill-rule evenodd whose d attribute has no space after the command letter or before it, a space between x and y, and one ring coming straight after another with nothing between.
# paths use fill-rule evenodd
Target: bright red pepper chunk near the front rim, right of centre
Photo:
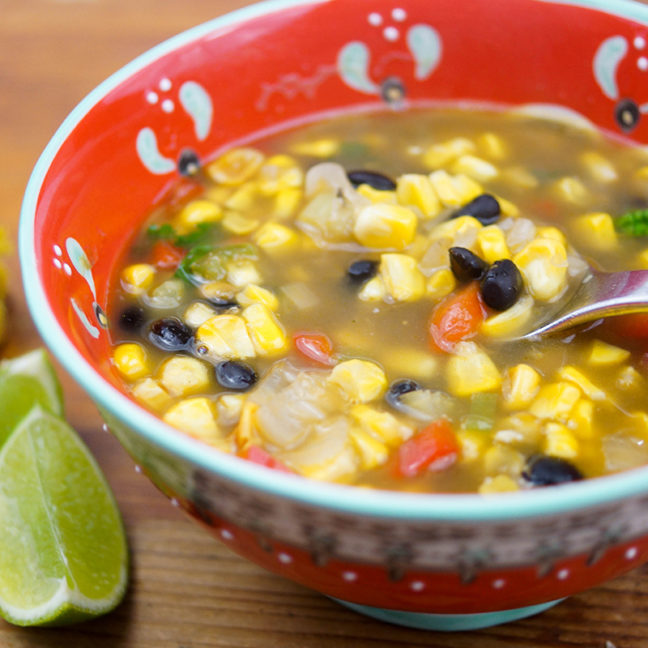
<instances>
[{"instance_id":1,"label":"bright red pepper chunk near the front rim, right of centre","mask_svg":"<svg viewBox=\"0 0 648 648\"><path fill-rule=\"evenodd\" d=\"M430 423L398 449L396 474L416 477L424 471L449 468L459 455L459 443L450 422Z\"/></svg>"}]
</instances>

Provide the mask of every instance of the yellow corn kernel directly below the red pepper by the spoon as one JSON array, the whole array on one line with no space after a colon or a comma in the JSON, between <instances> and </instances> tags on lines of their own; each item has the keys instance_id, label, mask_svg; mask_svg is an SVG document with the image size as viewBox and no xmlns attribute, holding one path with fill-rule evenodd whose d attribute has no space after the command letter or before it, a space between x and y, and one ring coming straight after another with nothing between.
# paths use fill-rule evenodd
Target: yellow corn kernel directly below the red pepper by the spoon
<instances>
[{"instance_id":1,"label":"yellow corn kernel directly below the red pepper by the spoon","mask_svg":"<svg viewBox=\"0 0 648 648\"><path fill-rule=\"evenodd\" d=\"M448 390L455 396L494 391L502 383L497 367L474 342L459 342L446 366Z\"/></svg>"}]
</instances>

